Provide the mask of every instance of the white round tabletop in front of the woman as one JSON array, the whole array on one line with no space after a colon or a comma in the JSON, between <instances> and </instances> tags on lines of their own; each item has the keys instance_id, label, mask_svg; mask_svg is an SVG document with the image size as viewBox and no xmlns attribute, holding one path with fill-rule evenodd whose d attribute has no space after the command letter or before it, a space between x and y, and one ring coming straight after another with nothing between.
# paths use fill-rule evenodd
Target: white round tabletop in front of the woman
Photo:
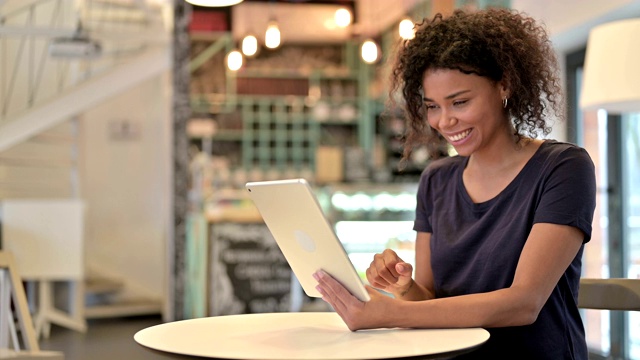
<instances>
[{"instance_id":1,"label":"white round tabletop in front of the woman","mask_svg":"<svg viewBox=\"0 0 640 360\"><path fill-rule=\"evenodd\" d=\"M160 352L219 359L393 359L472 351L489 332L472 329L350 331L334 312L244 314L175 321L138 331Z\"/></svg>"}]
</instances>

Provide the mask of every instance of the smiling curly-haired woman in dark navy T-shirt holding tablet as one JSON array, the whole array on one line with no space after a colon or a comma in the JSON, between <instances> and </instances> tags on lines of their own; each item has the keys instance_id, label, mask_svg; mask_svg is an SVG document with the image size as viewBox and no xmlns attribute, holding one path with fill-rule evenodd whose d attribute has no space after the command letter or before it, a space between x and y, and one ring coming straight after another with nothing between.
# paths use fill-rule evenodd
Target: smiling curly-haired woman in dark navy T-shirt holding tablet
<instances>
[{"instance_id":1,"label":"smiling curly-haired woman in dark navy T-shirt holding tablet","mask_svg":"<svg viewBox=\"0 0 640 360\"><path fill-rule=\"evenodd\" d=\"M398 52L408 133L435 155L417 194L414 269L392 250L367 270L371 301L325 272L323 299L351 330L483 327L479 359L587 359L577 307L591 237L595 174L585 150L540 140L561 116L548 37L516 11L436 15Z\"/></svg>"}]
</instances>

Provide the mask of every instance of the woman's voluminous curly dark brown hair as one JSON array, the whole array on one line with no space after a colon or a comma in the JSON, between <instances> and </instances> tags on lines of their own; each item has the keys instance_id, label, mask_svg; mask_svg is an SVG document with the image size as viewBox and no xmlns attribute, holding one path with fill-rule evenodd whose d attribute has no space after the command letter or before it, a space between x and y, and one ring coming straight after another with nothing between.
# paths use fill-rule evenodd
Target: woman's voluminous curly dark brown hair
<instances>
[{"instance_id":1,"label":"woman's voluminous curly dark brown hair","mask_svg":"<svg viewBox=\"0 0 640 360\"><path fill-rule=\"evenodd\" d=\"M416 24L411 40L399 44L391 71L390 101L406 117L403 160L425 145L431 158L446 149L446 140L426 121L422 80L429 69L456 69L504 81L514 135L548 135L547 115L564 117L558 63L545 28L516 10L488 8L436 14ZM402 100L396 100L402 91Z\"/></svg>"}]
</instances>

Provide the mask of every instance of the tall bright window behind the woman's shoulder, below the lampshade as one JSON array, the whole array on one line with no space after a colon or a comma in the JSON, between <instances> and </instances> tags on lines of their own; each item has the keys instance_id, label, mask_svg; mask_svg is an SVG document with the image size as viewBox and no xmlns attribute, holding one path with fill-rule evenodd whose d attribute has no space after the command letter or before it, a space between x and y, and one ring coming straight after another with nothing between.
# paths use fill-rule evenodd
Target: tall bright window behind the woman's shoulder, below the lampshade
<instances>
[{"instance_id":1,"label":"tall bright window behind the woman's shoulder, below the lampshade","mask_svg":"<svg viewBox=\"0 0 640 360\"><path fill-rule=\"evenodd\" d=\"M584 50L566 58L569 141L584 147L596 166L593 237L583 277L640 278L640 114L580 111ZM640 314L583 310L590 358L640 358Z\"/></svg>"}]
</instances>

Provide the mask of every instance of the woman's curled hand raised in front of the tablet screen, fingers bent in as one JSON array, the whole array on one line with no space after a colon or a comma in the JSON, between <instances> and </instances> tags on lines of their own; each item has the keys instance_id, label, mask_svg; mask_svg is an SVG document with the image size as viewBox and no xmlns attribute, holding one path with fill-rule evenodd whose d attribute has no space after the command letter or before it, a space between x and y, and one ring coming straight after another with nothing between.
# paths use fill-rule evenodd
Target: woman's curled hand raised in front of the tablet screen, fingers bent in
<instances>
[{"instance_id":1,"label":"woman's curled hand raised in front of the tablet screen, fingers bent in","mask_svg":"<svg viewBox=\"0 0 640 360\"><path fill-rule=\"evenodd\" d=\"M376 254L367 269L367 280L374 288L402 297L413 286L413 266L404 262L395 251L386 249Z\"/></svg>"}]
</instances>

